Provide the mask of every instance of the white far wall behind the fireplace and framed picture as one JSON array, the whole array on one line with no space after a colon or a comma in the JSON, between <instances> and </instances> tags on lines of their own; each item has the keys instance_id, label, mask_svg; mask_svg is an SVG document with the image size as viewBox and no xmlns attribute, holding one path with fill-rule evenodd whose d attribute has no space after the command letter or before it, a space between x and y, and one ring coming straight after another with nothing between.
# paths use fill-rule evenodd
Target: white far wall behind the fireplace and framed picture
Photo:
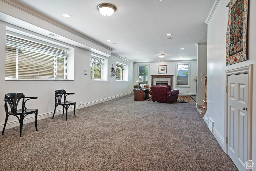
<instances>
[{"instance_id":1,"label":"white far wall behind the fireplace and framed picture","mask_svg":"<svg viewBox=\"0 0 256 171\"><path fill-rule=\"evenodd\" d=\"M190 87L175 87L175 69L176 69L176 63L183 63L183 62L191 62L190 66ZM195 95L196 94L196 81L193 81L193 79L196 76L197 73L197 61L172 61L172 62L148 62L148 63L134 63L134 84L137 84L136 81L138 79L138 65L149 65L149 75L169 75L174 74L173 76L173 89L178 89L180 94L188 94L189 95ZM167 65L167 73L166 74L158 74L158 66L159 65ZM151 86L151 76L149 77L148 84Z\"/></svg>"}]
</instances>

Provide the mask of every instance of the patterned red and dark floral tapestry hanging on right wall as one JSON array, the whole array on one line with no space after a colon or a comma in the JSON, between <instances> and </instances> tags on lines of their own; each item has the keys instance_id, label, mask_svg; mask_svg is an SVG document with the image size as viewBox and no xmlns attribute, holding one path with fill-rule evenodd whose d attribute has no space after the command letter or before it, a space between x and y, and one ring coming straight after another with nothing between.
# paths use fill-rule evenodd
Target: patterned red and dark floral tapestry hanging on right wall
<instances>
[{"instance_id":1,"label":"patterned red and dark floral tapestry hanging on right wall","mask_svg":"<svg viewBox=\"0 0 256 171\"><path fill-rule=\"evenodd\" d=\"M228 28L226 41L226 65L247 60L248 0L231 0L227 7Z\"/></svg>"}]
</instances>

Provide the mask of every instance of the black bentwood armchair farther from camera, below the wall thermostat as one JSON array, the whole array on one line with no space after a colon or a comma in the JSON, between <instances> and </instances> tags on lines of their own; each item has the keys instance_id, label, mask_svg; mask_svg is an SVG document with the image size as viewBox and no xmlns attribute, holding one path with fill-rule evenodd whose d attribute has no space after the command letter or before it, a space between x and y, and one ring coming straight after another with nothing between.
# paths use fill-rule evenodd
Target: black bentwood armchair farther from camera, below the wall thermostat
<instances>
[{"instance_id":1,"label":"black bentwood armchair farther from camera, below the wall thermostat","mask_svg":"<svg viewBox=\"0 0 256 171\"><path fill-rule=\"evenodd\" d=\"M68 120L68 108L69 106L74 105L74 115L76 117L76 102L68 102L66 100L66 96L69 94L74 94L74 93L66 93L65 90L55 90L55 109L54 109L52 119L54 117L57 106L63 106L62 116L64 115L64 108L66 109L66 120ZM64 95L64 101L61 102L61 98L63 95Z\"/></svg>"}]
</instances>

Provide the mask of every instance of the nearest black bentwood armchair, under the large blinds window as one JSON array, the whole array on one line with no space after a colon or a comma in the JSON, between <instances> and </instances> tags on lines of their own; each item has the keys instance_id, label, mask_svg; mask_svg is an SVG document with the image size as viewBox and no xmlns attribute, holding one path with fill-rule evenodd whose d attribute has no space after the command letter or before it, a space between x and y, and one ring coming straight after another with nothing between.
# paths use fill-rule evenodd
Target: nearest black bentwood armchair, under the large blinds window
<instances>
[{"instance_id":1,"label":"nearest black bentwood armchair, under the large blinds window","mask_svg":"<svg viewBox=\"0 0 256 171\"><path fill-rule=\"evenodd\" d=\"M25 98L27 98L25 100ZM19 137L21 137L21 131L22 131L22 127L23 127L23 119L29 115L29 114L35 114L36 115L36 130L37 130L37 112L38 109L27 109L25 106L25 103L27 102L27 100L30 99L36 99L37 97L25 97L23 93L8 93L5 94L4 96L4 109L5 109L5 122L4 122L4 128L3 128L3 132L2 135L4 135L4 130L5 130L5 126L8 120L9 116L16 116L19 120ZM22 99L22 109L17 109L18 107L18 103L20 101L20 99ZM8 111L8 105L10 106L10 111ZM20 117L18 117L18 115Z\"/></svg>"}]
</instances>

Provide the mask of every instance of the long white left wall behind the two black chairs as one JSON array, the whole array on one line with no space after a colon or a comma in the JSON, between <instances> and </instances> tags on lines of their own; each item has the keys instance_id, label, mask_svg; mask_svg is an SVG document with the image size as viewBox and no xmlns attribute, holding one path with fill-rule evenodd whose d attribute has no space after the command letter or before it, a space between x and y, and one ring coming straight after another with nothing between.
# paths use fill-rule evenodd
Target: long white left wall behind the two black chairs
<instances>
[{"instance_id":1,"label":"long white left wall behind the two black chairs","mask_svg":"<svg viewBox=\"0 0 256 171\"><path fill-rule=\"evenodd\" d=\"M38 99L29 100L26 103L26 107L39 110L38 119L52 117L56 89L65 89L67 92L75 93L74 95L69 95L67 98L69 101L77 102L76 109L133 93L132 88L128 89L128 85L133 85L132 62L115 56L106 57L108 59L108 81L90 81L91 52L72 45L70 46L74 48L74 81L6 81L5 33L6 23L0 21L0 97L2 97L3 100L6 93L18 92L24 93L25 96L38 97ZM52 40L54 41L54 39ZM116 62L128 65L128 81L116 81L115 77L110 77L112 64L115 68ZM84 69L87 69L87 75L84 75ZM82 105L80 105L80 102L82 102ZM62 111L61 107L57 109ZM72 108L70 109L73 110ZM60 112L57 114L59 113ZM35 119L32 119L32 117L34 116L31 115L31 119L29 119L30 115L28 115L24 123L34 122ZM73 115L69 115L68 117L73 117ZM3 129L4 121L5 110L4 102L2 101L2 103L0 103L0 130ZM6 129L18 125L17 118L10 116ZM38 125L40 125L40 121Z\"/></svg>"}]
</instances>

